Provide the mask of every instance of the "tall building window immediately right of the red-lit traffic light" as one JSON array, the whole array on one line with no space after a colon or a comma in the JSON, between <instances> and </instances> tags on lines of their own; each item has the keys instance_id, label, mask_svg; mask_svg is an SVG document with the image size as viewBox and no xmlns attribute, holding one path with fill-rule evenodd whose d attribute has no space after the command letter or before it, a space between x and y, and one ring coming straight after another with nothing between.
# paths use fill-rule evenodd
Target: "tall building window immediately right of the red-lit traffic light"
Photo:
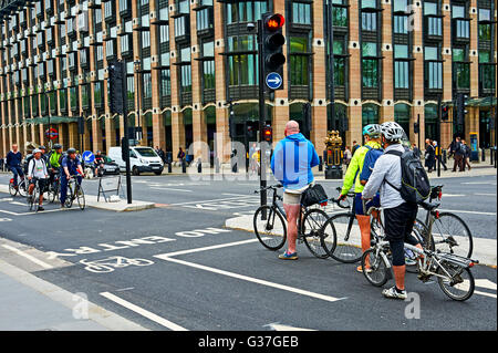
<instances>
[{"instance_id":1,"label":"tall building window immediately right of the red-lit traffic light","mask_svg":"<svg viewBox=\"0 0 498 353\"><path fill-rule=\"evenodd\" d=\"M305 37L290 38L290 84L291 85L309 85L310 61L309 40Z\"/></svg>"}]
</instances>

